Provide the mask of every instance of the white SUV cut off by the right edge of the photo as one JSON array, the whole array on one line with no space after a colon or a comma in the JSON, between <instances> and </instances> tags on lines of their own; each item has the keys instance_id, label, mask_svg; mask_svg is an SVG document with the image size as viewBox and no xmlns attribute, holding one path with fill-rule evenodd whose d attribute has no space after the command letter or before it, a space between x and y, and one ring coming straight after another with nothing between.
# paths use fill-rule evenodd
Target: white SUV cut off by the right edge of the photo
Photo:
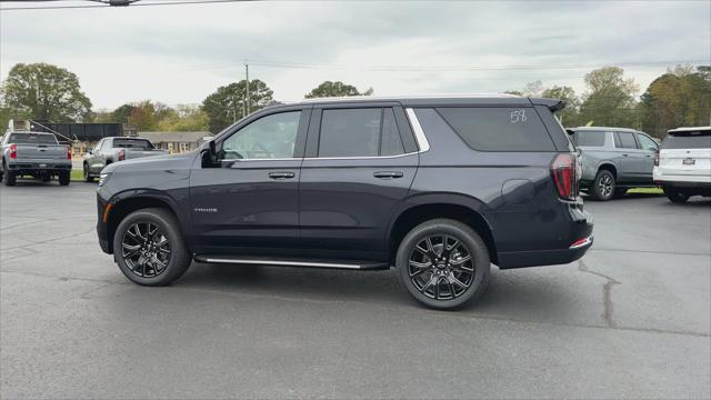
<instances>
[{"instance_id":1,"label":"white SUV cut off by the right edge of the photo","mask_svg":"<svg viewBox=\"0 0 711 400\"><path fill-rule=\"evenodd\" d=\"M673 202L711 196L711 127L668 132L654 167L654 181Z\"/></svg>"}]
</instances>

